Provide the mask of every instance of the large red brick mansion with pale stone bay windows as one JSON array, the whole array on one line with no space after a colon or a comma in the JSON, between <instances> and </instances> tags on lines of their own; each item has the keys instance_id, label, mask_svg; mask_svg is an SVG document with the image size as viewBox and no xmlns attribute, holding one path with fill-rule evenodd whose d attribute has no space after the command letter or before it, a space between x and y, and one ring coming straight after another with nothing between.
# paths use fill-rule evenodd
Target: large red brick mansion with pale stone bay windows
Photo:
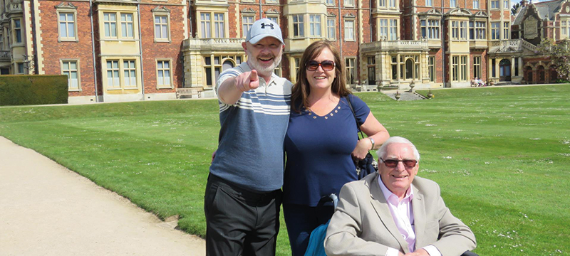
<instances>
[{"instance_id":1,"label":"large red brick mansion with pale stone bay windows","mask_svg":"<svg viewBox=\"0 0 570 256\"><path fill-rule=\"evenodd\" d=\"M341 49L347 82L410 88L471 80L556 80L541 38L570 37L570 0L0 0L1 74L65 74L70 102L161 100L176 88L213 95L217 75L246 60L258 18L281 25L275 72L296 80L313 41Z\"/></svg>"}]
</instances>

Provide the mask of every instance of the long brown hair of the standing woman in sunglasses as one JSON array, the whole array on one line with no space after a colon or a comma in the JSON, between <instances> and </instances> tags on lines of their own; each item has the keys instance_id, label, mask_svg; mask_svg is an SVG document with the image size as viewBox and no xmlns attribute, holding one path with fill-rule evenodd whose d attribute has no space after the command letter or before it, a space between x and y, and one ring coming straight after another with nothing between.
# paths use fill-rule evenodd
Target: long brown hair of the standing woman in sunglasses
<instances>
[{"instance_id":1,"label":"long brown hair of the standing woman in sunglasses","mask_svg":"<svg viewBox=\"0 0 570 256\"><path fill-rule=\"evenodd\" d=\"M301 56L301 61L299 62L299 73L297 73L297 82L293 85L293 89L291 91L291 107L293 108L293 111L297 113L301 112L298 108L299 102L301 102L305 107L309 107L311 86L309 85L309 80L307 80L306 63L309 62L309 60L314 60L314 58L321 54L324 48L331 50L335 62L336 78L334 78L333 84L331 85L331 91L333 94L338 95L338 97L345 97L346 95L351 94L351 91L346 89L344 62L341 60L341 54L338 52L338 49L330 41L316 41L311 43L311 45L305 49L303 56Z\"/></svg>"}]
</instances>

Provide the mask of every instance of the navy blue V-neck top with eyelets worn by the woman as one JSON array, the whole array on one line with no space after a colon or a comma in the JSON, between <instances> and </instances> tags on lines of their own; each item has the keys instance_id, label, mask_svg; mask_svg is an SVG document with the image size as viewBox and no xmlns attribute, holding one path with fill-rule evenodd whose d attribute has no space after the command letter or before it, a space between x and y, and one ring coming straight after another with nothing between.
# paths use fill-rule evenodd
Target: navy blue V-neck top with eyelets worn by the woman
<instances>
[{"instance_id":1,"label":"navy blue V-neck top with eyelets worn by the woman","mask_svg":"<svg viewBox=\"0 0 570 256\"><path fill-rule=\"evenodd\" d=\"M370 108L354 95L348 98L363 124ZM299 109L297 113L291 107L285 135L283 202L316 206L321 197L338 195L345 183L358 179L351 156L358 142L358 128L344 97L322 117L302 105Z\"/></svg>"}]
</instances>

